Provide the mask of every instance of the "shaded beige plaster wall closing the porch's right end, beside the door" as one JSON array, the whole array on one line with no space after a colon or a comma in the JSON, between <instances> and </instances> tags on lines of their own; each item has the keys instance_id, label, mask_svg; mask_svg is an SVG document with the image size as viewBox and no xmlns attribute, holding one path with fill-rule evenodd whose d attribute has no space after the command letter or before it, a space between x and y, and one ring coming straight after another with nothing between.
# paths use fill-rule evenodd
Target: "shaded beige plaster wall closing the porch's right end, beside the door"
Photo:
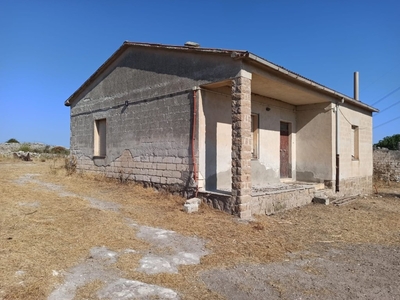
<instances>
[{"instance_id":1,"label":"shaded beige plaster wall closing the porch's right end, beside the door","mask_svg":"<svg viewBox=\"0 0 400 300\"><path fill-rule=\"evenodd\" d=\"M324 182L334 178L334 135L330 103L297 106L297 180Z\"/></svg>"}]
</instances>

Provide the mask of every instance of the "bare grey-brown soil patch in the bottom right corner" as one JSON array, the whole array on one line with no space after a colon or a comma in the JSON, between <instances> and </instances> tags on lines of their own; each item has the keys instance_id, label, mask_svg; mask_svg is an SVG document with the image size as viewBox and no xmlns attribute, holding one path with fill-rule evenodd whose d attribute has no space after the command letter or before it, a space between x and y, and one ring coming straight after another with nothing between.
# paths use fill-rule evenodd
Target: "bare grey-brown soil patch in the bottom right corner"
<instances>
[{"instance_id":1,"label":"bare grey-brown soil patch in the bottom right corner","mask_svg":"<svg viewBox=\"0 0 400 300\"><path fill-rule=\"evenodd\" d=\"M324 246L284 262L203 272L227 299L400 299L400 248Z\"/></svg>"}]
</instances>

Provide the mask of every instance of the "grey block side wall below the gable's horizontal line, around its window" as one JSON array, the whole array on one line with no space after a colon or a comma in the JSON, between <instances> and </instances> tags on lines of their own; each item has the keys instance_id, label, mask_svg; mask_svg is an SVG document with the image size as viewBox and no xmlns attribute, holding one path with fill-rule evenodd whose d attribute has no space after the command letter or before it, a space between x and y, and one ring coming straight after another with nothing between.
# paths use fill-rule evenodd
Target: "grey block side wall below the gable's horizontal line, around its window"
<instances>
[{"instance_id":1,"label":"grey block side wall below the gable's horizontal line, around its window","mask_svg":"<svg viewBox=\"0 0 400 300\"><path fill-rule=\"evenodd\" d=\"M193 194L191 91L71 118L78 170ZM87 107L86 109L90 109ZM94 156L94 123L106 119L106 156Z\"/></svg>"}]
</instances>

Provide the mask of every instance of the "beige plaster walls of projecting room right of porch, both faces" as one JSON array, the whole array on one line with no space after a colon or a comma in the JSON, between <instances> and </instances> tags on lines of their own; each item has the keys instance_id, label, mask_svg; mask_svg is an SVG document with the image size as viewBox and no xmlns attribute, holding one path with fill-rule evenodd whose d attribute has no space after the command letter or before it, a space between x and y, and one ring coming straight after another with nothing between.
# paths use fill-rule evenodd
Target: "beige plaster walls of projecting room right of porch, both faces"
<instances>
[{"instance_id":1,"label":"beige plaster walls of projecting room right of porch, both faces","mask_svg":"<svg viewBox=\"0 0 400 300\"><path fill-rule=\"evenodd\" d=\"M326 181L335 187L336 115L334 104L297 107L297 179ZM359 158L352 158L352 125L359 127ZM361 109L339 106L340 183L337 197L371 192L372 118Z\"/></svg>"}]
</instances>

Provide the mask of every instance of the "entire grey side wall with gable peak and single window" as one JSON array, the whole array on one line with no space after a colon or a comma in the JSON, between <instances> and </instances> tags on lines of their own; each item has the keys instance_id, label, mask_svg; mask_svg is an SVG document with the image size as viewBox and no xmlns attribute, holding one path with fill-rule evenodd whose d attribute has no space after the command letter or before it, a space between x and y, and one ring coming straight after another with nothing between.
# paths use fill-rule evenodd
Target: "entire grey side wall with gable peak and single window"
<instances>
[{"instance_id":1,"label":"entire grey side wall with gable peak and single window","mask_svg":"<svg viewBox=\"0 0 400 300\"><path fill-rule=\"evenodd\" d=\"M128 49L71 106L78 169L191 190L192 88L239 70L229 57ZM102 157L94 155L96 120L106 123Z\"/></svg>"}]
</instances>

